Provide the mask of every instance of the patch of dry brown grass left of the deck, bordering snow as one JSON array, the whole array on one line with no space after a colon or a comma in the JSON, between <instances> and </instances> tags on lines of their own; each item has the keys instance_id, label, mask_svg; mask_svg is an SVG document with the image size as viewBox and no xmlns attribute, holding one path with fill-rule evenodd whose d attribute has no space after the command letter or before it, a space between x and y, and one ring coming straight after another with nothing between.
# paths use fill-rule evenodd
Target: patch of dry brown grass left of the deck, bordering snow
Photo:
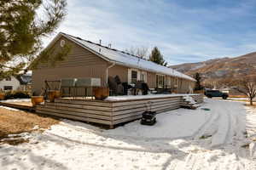
<instances>
[{"instance_id":1,"label":"patch of dry brown grass left of the deck, bordering snow","mask_svg":"<svg viewBox=\"0 0 256 170\"><path fill-rule=\"evenodd\" d=\"M59 121L25 111L10 111L0 108L0 144L9 134L32 132L35 126L47 129ZM2 141L3 142L3 141ZM15 143L15 141L11 141ZM26 140L24 140L26 142Z\"/></svg>"}]
</instances>

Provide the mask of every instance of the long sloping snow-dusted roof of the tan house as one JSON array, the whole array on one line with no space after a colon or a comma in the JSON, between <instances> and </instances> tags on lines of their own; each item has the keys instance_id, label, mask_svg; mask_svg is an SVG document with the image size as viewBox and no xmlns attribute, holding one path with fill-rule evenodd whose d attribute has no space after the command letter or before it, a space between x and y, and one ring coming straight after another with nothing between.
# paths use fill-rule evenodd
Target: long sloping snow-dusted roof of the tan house
<instances>
[{"instance_id":1,"label":"long sloping snow-dusted roof of the tan house","mask_svg":"<svg viewBox=\"0 0 256 170\"><path fill-rule=\"evenodd\" d=\"M98 56L102 57L102 59L106 59L110 62L114 62L117 65L125 65L131 68L137 68L144 71L151 71L159 74L169 75L172 77L180 77L180 78L188 79L190 81L195 81L194 78L189 77L188 75L185 75L179 71L175 71L172 68L155 64L152 61L149 61L147 59L141 59L135 55L125 53L124 51L119 51L114 48L108 48L108 47L102 46L101 44L90 42L80 37L73 37L71 35L68 35L62 32L60 32L58 36L60 35L67 37L67 39L78 43L81 47L86 48L91 52L94 52Z\"/></svg>"}]
</instances>

